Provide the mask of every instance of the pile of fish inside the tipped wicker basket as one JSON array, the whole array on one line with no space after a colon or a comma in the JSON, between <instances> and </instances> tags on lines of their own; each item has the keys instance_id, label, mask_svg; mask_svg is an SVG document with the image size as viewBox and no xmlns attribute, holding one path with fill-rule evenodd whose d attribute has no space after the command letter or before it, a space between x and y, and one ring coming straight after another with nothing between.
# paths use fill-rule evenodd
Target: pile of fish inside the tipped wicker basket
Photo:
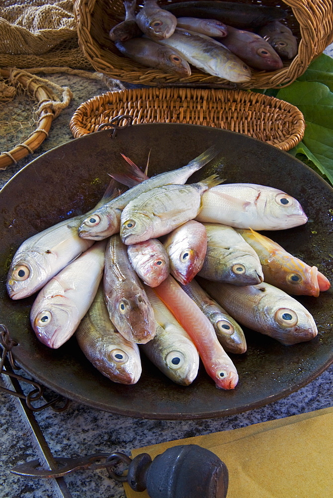
<instances>
[{"instance_id":1,"label":"pile of fish inside the tipped wicker basket","mask_svg":"<svg viewBox=\"0 0 333 498\"><path fill-rule=\"evenodd\" d=\"M280 21L287 12L229 1L185 1L160 7L124 0L125 19L109 32L128 58L176 75L191 75L190 65L232 82L251 79L251 69L275 71L297 53L297 40ZM254 32L255 31L255 32ZM250 67L249 67L250 66Z\"/></svg>"}]
</instances>

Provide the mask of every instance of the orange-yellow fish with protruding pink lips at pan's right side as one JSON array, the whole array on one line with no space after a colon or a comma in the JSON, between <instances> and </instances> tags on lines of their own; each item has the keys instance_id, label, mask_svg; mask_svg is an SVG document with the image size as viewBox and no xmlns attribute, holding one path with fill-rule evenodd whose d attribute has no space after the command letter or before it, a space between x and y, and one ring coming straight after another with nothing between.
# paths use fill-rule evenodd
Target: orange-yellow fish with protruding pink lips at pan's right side
<instances>
[{"instance_id":1,"label":"orange-yellow fish with protruding pink lips at pan's right side","mask_svg":"<svg viewBox=\"0 0 333 498\"><path fill-rule=\"evenodd\" d=\"M329 280L317 266L309 266L253 230L238 229L237 232L258 254L265 282L297 296L318 297L320 291L330 288Z\"/></svg>"}]
</instances>

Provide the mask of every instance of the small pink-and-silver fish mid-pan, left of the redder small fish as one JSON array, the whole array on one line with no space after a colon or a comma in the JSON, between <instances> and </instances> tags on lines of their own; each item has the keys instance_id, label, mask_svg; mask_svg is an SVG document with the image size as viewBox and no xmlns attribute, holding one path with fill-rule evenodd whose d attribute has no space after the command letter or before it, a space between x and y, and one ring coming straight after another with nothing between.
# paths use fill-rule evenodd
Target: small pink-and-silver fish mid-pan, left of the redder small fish
<instances>
[{"instance_id":1,"label":"small pink-and-silver fish mid-pan, left of the redder small fish","mask_svg":"<svg viewBox=\"0 0 333 498\"><path fill-rule=\"evenodd\" d=\"M170 273L167 251L157 239L127 246L127 254L141 280L150 287L160 285Z\"/></svg>"}]
</instances>

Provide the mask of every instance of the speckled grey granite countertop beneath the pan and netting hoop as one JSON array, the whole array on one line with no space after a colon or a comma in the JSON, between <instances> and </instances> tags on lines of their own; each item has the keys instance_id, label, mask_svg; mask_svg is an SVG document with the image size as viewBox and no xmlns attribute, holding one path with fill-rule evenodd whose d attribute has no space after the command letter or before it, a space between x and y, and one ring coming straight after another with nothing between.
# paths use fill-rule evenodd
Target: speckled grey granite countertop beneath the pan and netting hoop
<instances>
[{"instance_id":1,"label":"speckled grey granite countertop beneath the pan and netting hoop","mask_svg":"<svg viewBox=\"0 0 333 498\"><path fill-rule=\"evenodd\" d=\"M332 45L325 53L333 56ZM41 153L73 139L70 119L82 102L108 90L102 81L59 74L46 76L74 93L70 106L54 121L41 147L17 165L0 172L0 187L25 164ZM305 413L332 406L333 366L307 386L289 396L239 415L207 420L167 421L143 420L113 415L72 401L69 408L55 413L47 408L35 417L54 456L77 457L97 452L120 451L130 455L131 449L163 441L208 434L244 427L250 424ZM25 426L19 419L10 395L0 392L1 452L0 496L5 498L54 498L49 481L25 479L9 473L14 465L34 460L37 454ZM121 484L112 481L105 470L79 471L66 477L73 498L124 498Z\"/></svg>"}]
</instances>

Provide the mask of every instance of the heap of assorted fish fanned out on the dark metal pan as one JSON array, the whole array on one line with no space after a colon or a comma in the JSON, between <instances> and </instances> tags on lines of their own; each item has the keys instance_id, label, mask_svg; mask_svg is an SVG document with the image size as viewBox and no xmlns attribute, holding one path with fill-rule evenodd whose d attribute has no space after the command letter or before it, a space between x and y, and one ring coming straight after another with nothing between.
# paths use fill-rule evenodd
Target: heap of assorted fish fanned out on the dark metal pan
<instances>
[{"instance_id":1,"label":"heap of assorted fish fanned out on the dark metal pan","mask_svg":"<svg viewBox=\"0 0 333 498\"><path fill-rule=\"evenodd\" d=\"M306 214L272 187L217 175L185 184L220 152L212 145L152 178L123 156L127 169L111 174L95 208L23 242L7 292L22 299L39 291L30 319L43 344L59 348L76 333L88 360L124 384L140 377L139 347L183 385L200 357L218 387L233 389L228 353L247 350L240 324L284 345L317 335L289 294L318 297L330 282L256 232L303 225ZM129 189L120 193L116 181Z\"/></svg>"}]
</instances>

